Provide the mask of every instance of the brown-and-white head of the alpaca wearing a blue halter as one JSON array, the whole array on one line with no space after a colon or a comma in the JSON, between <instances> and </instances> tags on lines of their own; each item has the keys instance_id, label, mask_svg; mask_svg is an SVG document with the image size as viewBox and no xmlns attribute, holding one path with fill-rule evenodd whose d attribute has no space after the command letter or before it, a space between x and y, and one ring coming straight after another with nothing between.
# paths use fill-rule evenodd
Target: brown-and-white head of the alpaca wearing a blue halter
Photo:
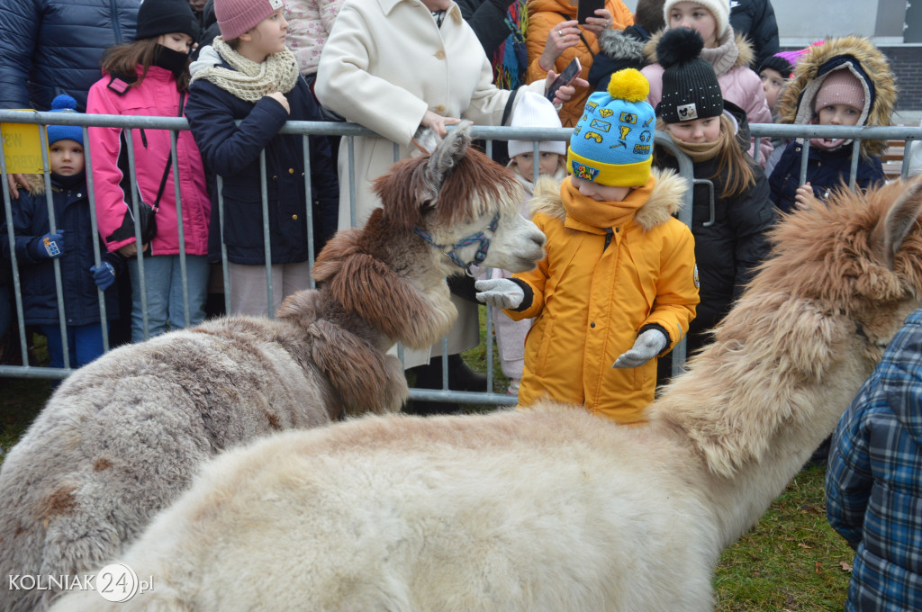
<instances>
[{"instance_id":1,"label":"brown-and-white head of the alpaca wearing a blue halter","mask_svg":"<svg viewBox=\"0 0 922 612\"><path fill-rule=\"evenodd\" d=\"M470 147L470 123L426 155L397 162L374 183L382 215L444 253L445 274L476 264L523 272L544 256L544 234L522 218L512 173Z\"/></svg>"}]
</instances>

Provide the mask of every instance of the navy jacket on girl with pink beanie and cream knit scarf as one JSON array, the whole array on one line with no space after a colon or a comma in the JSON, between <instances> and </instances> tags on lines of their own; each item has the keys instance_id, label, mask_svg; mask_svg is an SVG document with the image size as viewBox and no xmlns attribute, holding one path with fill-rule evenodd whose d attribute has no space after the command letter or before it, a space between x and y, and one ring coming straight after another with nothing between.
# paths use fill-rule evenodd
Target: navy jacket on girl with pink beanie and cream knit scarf
<instances>
[{"instance_id":1,"label":"navy jacket on girl with pink beanie and cream knit scarf","mask_svg":"<svg viewBox=\"0 0 922 612\"><path fill-rule=\"evenodd\" d=\"M220 67L233 69L221 63ZM211 175L211 226L208 252L220 257L218 190L223 179L224 242L234 264L263 265L263 208L259 152L266 149L269 240L273 264L307 261L307 200L301 135L278 134L287 121L321 121L320 110L302 77L286 94L291 114L276 100L247 102L203 79L189 90L185 116ZM241 124L235 124L236 121ZM310 139L311 188L315 246L337 230L339 182L324 137Z\"/></svg>"}]
</instances>

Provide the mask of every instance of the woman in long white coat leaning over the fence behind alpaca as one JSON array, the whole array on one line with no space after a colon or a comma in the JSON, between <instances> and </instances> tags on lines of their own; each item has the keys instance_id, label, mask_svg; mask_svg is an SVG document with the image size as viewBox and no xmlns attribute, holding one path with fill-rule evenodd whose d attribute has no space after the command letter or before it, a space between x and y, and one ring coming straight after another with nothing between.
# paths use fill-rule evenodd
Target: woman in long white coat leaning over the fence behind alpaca
<instances>
[{"instance_id":1,"label":"woman in long white coat leaning over the fence behind alpaca","mask_svg":"<svg viewBox=\"0 0 922 612\"><path fill-rule=\"evenodd\" d=\"M325 108L383 137L354 138L354 186L347 143L340 145L339 229L361 226L380 206L372 182L395 159L416 150L411 139L420 127L444 135L446 125L461 119L499 125L505 118L508 123L516 97L495 87L492 76L490 61L454 0L346 0L324 45L314 91ZM526 88L543 94L555 76ZM581 79L575 83L588 85ZM574 92L572 86L561 88L555 101L569 100ZM453 356L479 343L477 305L461 299L455 305L458 319L448 336ZM441 343L432 347L432 355L441 353ZM430 351L407 350L404 358L408 368L417 366L429 362Z\"/></svg>"}]
</instances>

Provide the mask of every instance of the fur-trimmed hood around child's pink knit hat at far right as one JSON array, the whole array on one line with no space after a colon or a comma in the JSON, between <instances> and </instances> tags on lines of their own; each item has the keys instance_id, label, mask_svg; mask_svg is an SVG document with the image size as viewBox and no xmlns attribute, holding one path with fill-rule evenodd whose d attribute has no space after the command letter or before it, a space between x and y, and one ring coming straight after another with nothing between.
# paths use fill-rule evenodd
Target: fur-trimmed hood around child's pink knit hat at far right
<instances>
[{"instance_id":1,"label":"fur-trimmed hood around child's pink knit hat at far right","mask_svg":"<svg viewBox=\"0 0 922 612\"><path fill-rule=\"evenodd\" d=\"M849 58L854 58L857 65ZM778 101L778 123L809 123L813 100L823 79L835 70L846 69L866 85L865 100L866 106L869 100L869 107L864 124L890 125L896 105L896 77L887 57L874 43L861 36L827 39L800 58L793 78ZM886 147L881 140L864 140L861 152L866 156L879 156Z\"/></svg>"}]
</instances>

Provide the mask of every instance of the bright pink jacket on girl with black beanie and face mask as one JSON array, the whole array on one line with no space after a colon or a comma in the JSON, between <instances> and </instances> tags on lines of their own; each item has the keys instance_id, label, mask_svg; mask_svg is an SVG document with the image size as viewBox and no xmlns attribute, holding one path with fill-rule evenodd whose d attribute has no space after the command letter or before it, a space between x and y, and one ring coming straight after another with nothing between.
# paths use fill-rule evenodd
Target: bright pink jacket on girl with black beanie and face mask
<instances>
[{"instance_id":1,"label":"bright pink jacket on girl with black beanie and face mask","mask_svg":"<svg viewBox=\"0 0 922 612\"><path fill-rule=\"evenodd\" d=\"M150 66L148 76L140 85L128 89L124 95L109 88L110 76L103 76L91 88L87 99L87 112L113 115L139 115L175 117L179 112L179 91L171 72L159 66ZM130 213L132 196L122 188L124 172L118 163L122 151L122 128L90 127L89 148L92 156L93 190L96 197L96 214L100 236L111 252L135 241ZM180 202L183 205L183 232L185 252L191 255L208 253L208 219L211 201L208 199L205 168L195 145L192 133L178 133L176 154L179 161ZM150 205L157 200L160 181L170 155L170 132L167 130L132 130L135 151L135 171L141 199ZM172 166L166 187L160 197L157 213L157 236L151 244L151 254L179 253L179 234L176 218L176 199ZM127 182L125 182L127 185ZM127 186L125 187L127 189ZM129 235L126 236L128 232Z\"/></svg>"}]
</instances>

